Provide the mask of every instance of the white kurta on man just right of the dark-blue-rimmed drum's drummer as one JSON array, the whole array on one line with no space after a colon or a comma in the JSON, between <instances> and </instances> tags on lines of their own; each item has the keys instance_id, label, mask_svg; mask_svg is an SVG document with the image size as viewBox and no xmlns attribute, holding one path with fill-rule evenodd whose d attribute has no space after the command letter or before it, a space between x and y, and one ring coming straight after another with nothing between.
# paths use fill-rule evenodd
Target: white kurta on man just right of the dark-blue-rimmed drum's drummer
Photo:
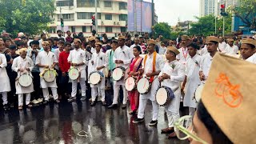
<instances>
[{"instance_id":1,"label":"white kurta on man just right of the dark-blue-rimmed drum's drummer","mask_svg":"<svg viewBox=\"0 0 256 144\"><path fill-rule=\"evenodd\" d=\"M198 54L194 55L193 58L190 58L187 65L186 70L186 94L184 98L184 106L189 106L196 108L197 102L194 99L195 90L197 90L198 86L201 84L199 78L199 69L202 57Z\"/></svg>"}]
</instances>

